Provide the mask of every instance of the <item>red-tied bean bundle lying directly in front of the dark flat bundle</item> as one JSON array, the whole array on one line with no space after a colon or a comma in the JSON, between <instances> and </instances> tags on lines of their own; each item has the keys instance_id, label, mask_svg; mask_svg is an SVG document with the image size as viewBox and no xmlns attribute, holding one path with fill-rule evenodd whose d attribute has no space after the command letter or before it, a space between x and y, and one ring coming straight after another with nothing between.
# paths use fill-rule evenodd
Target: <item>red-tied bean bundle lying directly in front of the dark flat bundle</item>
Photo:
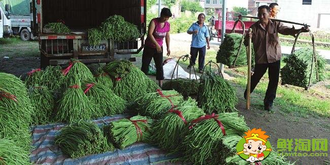
<instances>
[{"instance_id":1,"label":"red-tied bean bundle lying directly in front of the dark flat bundle","mask_svg":"<svg viewBox=\"0 0 330 165\"><path fill-rule=\"evenodd\" d=\"M136 111L142 115L158 119L182 101L182 95L174 90L158 90L157 92L148 93L137 98L135 100L137 105Z\"/></svg>"}]
</instances>

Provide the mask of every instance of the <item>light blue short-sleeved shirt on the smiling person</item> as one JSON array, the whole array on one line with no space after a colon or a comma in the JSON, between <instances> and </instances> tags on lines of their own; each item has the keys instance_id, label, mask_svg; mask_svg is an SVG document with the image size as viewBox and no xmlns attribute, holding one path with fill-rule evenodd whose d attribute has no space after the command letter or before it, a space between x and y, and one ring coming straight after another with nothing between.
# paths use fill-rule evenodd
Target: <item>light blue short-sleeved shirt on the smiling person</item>
<instances>
[{"instance_id":1,"label":"light blue short-sleeved shirt on the smiling person","mask_svg":"<svg viewBox=\"0 0 330 165\"><path fill-rule=\"evenodd\" d=\"M194 48L202 48L206 46L206 37L210 37L209 29L203 23L203 27L201 28L200 25L195 22L193 23L187 31L194 31L198 30L197 34L192 34L192 40L190 47Z\"/></svg>"}]
</instances>

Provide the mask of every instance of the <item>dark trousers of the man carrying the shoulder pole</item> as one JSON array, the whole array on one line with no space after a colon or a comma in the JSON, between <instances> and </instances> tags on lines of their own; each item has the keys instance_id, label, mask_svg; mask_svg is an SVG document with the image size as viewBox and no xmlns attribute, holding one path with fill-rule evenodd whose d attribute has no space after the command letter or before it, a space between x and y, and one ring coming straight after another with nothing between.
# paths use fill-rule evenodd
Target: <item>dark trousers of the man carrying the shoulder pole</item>
<instances>
[{"instance_id":1,"label":"dark trousers of the man carrying the shoulder pole","mask_svg":"<svg viewBox=\"0 0 330 165\"><path fill-rule=\"evenodd\" d=\"M277 90L279 74L280 74L280 64L281 64L281 60L273 63L255 64L254 73L251 76L251 86L250 86L251 93L259 83L263 74L265 74L266 70L268 69L269 83L268 83L265 99L263 99L263 103L265 104L265 106L272 106L273 101L276 97L276 90ZM244 92L244 95L246 95L246 90Z\"/></svg>"}]
</instances>

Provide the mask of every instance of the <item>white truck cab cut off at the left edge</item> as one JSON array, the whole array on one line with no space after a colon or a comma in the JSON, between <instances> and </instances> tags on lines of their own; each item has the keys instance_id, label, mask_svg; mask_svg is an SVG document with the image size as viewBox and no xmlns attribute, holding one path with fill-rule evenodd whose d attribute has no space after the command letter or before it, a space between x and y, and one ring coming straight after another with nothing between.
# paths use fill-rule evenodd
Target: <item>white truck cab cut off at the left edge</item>
<instances>
[{"instance_id":1,"label":"white truck cab cut off at the left edge","mask_svg":"<svg viewBox=\"0 0 330 165\"><path fill-rule=\"evenodd\" d=\"M9 15L10 5L5 6L0 2L0 38L9 37L13 34Z\"/></svg>"}]
</instances>

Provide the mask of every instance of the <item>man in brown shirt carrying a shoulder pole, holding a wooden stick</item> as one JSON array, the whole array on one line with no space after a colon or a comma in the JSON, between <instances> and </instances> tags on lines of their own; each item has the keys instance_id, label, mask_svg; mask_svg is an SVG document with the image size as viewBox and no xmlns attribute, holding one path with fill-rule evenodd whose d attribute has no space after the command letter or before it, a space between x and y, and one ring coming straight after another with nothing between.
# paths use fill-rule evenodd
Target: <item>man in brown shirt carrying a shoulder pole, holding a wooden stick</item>
<instances>
[{"instance_id":1,"label":"man in brown shirt carrying a shoulder pole, holding a wooden stick","mask_svg":"<svg viewBox=\"0 0 330 165\"><path fill-rule=\"evenodd\" d=\"M281 46L279 43L278 33L283 35L294 35L300 30L302 32L308 32L308 28L302 27L301 29L295 29L294 26L287 27L283 23L278 21L272 21L269 19L271 9L270 7L263 5L258 8L259 21L250 26L252 29L252 44L254 49L255 69L251 76L251 93L255 89L259 80L265 74L268 69L269 83L263 99L263 105L265 110L270 110L273 106L274 99L276 97L276 90L279 81L280 63L281 63ZM248 46L249 33L246 34L244 45ZM247 92L244 92L244 98L246 99Z\"/></svg>"}]
</instances>

